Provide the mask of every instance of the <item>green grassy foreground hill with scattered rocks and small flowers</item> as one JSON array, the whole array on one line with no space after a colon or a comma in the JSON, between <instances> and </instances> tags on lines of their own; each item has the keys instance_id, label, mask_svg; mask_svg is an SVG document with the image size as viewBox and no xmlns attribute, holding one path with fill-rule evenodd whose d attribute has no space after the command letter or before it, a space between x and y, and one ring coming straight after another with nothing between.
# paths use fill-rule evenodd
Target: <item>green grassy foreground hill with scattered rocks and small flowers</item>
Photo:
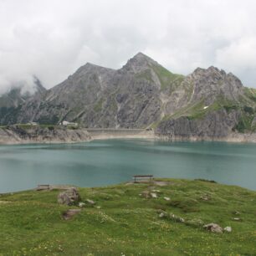
<instances>
[{"instance_id":1,"label":"green grassy foreground hill with scattered rocks and small flowers","mask_svg":"<svg viewBox=\"0 0 256 256\"><path fill-rule=\"evenodd\" d=\"M2 194L0 255L256 255L256 192L157 181L79 188L81 201L95 204L69 220L64 212L79 207L58 204L57 189ZM207 223L232 232L211 233L202 228Z\"/></svg>"}]
</instances>

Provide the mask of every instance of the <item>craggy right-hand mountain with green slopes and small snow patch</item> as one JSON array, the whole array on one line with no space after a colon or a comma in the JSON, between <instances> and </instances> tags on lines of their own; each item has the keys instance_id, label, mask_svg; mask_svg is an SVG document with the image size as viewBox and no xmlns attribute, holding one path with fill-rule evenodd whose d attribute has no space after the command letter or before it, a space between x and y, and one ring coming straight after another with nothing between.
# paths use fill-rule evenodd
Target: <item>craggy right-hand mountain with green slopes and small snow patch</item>
<instances>
[{"instance_id":1,"label":"craggy right-hand mountain with green slopes and small snow patch","mask_svg":"<svg viewBox=\"0 0 256 256\"><path fill-rule=\"evenodd\" d=\"M156 133L171 138L223 138L232 132L256 131L256 90L214 67L196 69L181 84L190 84L177 97L181 107L157 124ZM181 95L189 99L179 104ZM171 108L172 109L172 108Z\"/></svg>"}]
</instances>

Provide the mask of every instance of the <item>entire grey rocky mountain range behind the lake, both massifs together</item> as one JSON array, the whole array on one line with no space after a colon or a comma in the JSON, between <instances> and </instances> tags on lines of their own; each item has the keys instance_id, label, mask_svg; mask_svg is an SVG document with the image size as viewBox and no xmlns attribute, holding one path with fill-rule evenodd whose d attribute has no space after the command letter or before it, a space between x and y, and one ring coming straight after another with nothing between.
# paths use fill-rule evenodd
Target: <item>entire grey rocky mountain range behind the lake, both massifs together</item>
<instances>
[{"instance_id":1,"label":"entire grey rocky mountain range behind the lake, both massifs together","mask_svg":"<svg viewBox=\"0 0 256 256\"><path fill-rule=\"evenodd\" d=\"M160 136L218 138L256 131L256 90L215 67L173 74L145 54L121 69L85 64L25 100L3 124L62 120L84 127L155 128Z\"/></svg>"}]
</instances>

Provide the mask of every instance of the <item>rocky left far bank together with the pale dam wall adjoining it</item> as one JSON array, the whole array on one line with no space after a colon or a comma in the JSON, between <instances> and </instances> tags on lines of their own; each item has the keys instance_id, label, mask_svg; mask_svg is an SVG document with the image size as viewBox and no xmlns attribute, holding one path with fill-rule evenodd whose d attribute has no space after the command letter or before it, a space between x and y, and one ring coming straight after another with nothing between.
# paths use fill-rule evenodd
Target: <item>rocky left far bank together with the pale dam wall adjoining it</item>
<instances>
[{"instance_id":1,"label":"rocky left far bank together with the pale dam wall adjoining it","mask_svg":"<svg viewBox=\"0 0 256 256\"><path fill-rule=\"evenodd\" d=\"M154 138L144 129L84 129L55 125L12 125L0 128L0 144L74 143L111 138Z\"/></svg>"}]
</instances>

